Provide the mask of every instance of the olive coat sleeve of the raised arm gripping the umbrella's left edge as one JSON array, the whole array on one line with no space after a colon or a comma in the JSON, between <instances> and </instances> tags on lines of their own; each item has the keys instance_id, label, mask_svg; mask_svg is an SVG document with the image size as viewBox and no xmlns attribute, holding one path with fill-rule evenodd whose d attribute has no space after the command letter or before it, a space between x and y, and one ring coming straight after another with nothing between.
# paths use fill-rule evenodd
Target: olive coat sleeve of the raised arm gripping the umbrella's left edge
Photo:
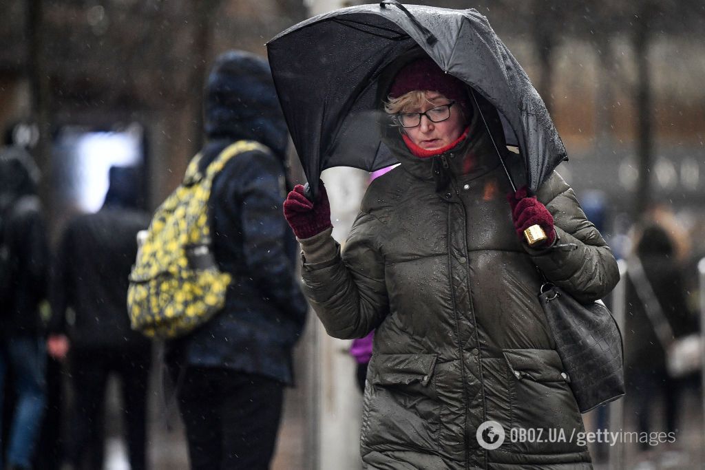
<instances>
[{"instance_id":1,"label":"olive coat sleeve of the raised arm gripping the umbrella's left edge","mask_svg":"<svg viewBox=\"0 0 705 470\"><path fill-rule=\"evenodd\" d=\"M342 256L331 229L300 240L304 293L334 338L362 338L388 312L384 259L374 241L380 230L376 218L361 213Z\"/></svg>"}]
</instances>

